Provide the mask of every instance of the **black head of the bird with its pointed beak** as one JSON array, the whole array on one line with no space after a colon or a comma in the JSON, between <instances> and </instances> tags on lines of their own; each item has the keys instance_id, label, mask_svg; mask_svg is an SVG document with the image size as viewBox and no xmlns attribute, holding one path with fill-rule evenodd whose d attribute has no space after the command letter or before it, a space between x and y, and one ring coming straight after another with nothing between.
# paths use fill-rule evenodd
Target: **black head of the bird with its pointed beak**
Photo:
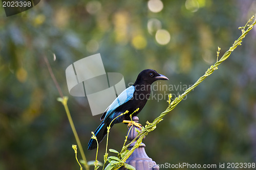
<instances>
[{"instance_id":1,"label":"black head of the bird with its pointed beak","mask_svg":"<svg viewBox=\"0 0 256 170\"><path fill-rule=\"evenodd\" d=\"M140 74L137 77L137 80L135 81L134 85L139 84L148 84L151 85L153 82L157 80L169 80L164 75L159 74L154 69L144 69L140 72Z\"/></svg>"}]
</instances>

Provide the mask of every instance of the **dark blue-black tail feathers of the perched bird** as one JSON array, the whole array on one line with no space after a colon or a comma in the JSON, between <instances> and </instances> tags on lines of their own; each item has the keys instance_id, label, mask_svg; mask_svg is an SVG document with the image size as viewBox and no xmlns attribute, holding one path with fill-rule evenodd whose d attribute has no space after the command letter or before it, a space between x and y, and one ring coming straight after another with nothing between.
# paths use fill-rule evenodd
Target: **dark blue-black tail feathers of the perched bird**
<instances>
[{"instance_id":1,"label":"dark blue-black tail feathers of the perched bird","mask_svg":"<svg viewBox=\"0 0 256 170\"><path fill-rule=\"evenodd\" d=\"M108 129L107 129L108 126L109 126L108 124L106 124L106 123L104 123L104 121L102 121L102 123L99 125L99 127L94 132L94 134L97 137L97 140L98 140L99 143L105 137L105 135L108 131ZM95 139L91 138L89 143L88 143L88 150L93 150L93 149L96 149L96 148L97 148L97 141Z\"/></svg>"}]
</instances>

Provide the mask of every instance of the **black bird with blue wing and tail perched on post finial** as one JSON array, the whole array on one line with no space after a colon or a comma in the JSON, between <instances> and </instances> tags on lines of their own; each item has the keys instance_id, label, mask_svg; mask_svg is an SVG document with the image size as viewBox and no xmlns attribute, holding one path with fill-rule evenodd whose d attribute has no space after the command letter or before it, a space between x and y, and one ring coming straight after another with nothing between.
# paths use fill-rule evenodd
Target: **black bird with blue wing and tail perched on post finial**
<instances>
[{"instance_id":1,"label":"black bird with blue wing and tail perched on post finial","mask_svg":"<svg viewBox=\"0 0 256 170\"><path fill-rule=\"evenodd\" d=\"M135 83L117 96L100 117L100 120L103 121L94 132L98 142L101 142L107 134L107 127L110 126L112 128L117 123L132 123L130 115L136 116L143 109L150 98L151 84L157 80L169 79L159 74L156 70L144 69L138 75ZM96 149L97 141L91 137L88 143L88 150Z\"/></svg>"}]
</instances>

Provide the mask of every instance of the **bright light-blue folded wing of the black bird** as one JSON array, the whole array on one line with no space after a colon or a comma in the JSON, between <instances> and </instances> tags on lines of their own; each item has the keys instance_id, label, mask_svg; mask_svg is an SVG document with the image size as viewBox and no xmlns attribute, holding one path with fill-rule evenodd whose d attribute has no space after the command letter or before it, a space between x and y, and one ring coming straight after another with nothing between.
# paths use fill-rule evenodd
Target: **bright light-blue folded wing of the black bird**
<instances>
[{"instance_id":1,"label":"bright light-blue folded wing of the black bird","mask_svg":"<svg viewBox=\"0 0 256 170\"><path fill-rule=\"evenodd\" d=\"M130 86L130 87L126 88L125 90L123 90L117 96L117 98L114 100L114 102L105 110L104 118L111 115L111 113L113 113L117 107L119 107L119 106L123 105L124 103L128 102L129 100L131 100L133 98L134 91L135 91L134 86ZM103 118L103 117L101 117L101 118Z\"/></svg>"}]
</instances>

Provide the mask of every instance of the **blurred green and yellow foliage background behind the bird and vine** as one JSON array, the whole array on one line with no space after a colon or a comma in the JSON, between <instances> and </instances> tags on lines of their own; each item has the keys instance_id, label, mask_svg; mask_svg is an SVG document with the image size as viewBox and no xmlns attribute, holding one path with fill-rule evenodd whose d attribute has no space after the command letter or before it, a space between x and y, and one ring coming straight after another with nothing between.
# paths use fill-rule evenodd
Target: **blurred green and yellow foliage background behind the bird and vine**
<instances>
[{"instance_id":1,"label":"blurred green and yellow foliage background behind the bird and vine","mask_svg":"<svg viewBox=\"0 0 256 170\"><path fill-rule=\"evenodd\" d=\"M120 72L126 87L152 68L181 94L232 45L256 12L253 0L41 1L6 17L0 8L0 169L78 169L76 144L44 55L64 95L88 160L87 144L100 124L87 98L69 94L65 70L100 53L106 72ZM188 94L143 142L165 162L256 162L256 29L219 69ZM54 61L52 53L56 55ZM155 83L157 84L157 83ZM152 122L167 107L150 100L139 114ZM120 150L127 128L115 125L109 148ZM103 161L105 139L100 144ZM79 151L78 151L79 152ZM78 154L80 159L80 155Z\"/></svg>"}]
</instances>

